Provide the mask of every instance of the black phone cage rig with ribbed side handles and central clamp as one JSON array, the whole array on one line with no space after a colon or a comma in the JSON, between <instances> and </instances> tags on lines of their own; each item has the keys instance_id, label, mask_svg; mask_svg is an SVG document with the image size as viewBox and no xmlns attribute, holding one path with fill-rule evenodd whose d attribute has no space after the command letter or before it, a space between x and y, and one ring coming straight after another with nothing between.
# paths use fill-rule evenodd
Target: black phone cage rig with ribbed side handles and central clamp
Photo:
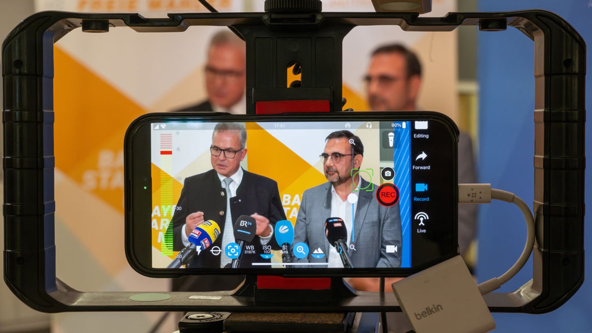
<instances>
[{"instance_id":1,"label":"black phone cage rig with ribbed side handles and central clamp","mask_svg":"<svg viewBox=\"0 0 592 333\"><path fill-rule=\"evenodd\" d=\"M53 44L78 27L95 32L129 27L150 33L185 31L191 25L229 26L246 40L247 114L267 114L282 105L291 112L341 111L342 40L358 25L398 25L405 31L452 31L459 25L497 31L509 25L522 31L535 44L533 211L537 245L533 278L514 292L491 293L485 300L494 312L543 313L561 306L583 283L585 43L558 15L539 10L452 12L445 17L304 11L144 18L139 14L40 12L21 22L2 44L4 277L12 292L31 308L43 312L400 311L392 293L353 296L336 292L319 302L278 305L244 290L217 293L215 300L208 293L172 292L138 302L134 299L139 292L81 292L57 279ZM299 64L302 75L300 86L289 88L285 84L287 65L292 63ZM333 289L342 289L341 279L331 279L339 284ZM246 285L253 284L250 277ZM314 290L310 292L314 295Z\"/></svg>"}]
</instances>

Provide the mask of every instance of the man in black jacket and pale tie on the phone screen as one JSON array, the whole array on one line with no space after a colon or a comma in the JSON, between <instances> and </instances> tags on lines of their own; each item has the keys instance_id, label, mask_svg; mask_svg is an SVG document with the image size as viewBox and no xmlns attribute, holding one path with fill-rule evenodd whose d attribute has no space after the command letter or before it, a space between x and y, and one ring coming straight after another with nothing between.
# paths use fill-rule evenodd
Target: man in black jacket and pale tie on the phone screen
<instances>
[{"instance_id":1,"label":"man in black jacket and pale tie on the phone screen","mask_svg":"<svg viewBox=\"0 0 592 333\"><path fill-rule=\"evenodd\" d=\"M201 251L188 264L189 268L220 268L230 263L224 254L228 243L234 242L233 225L240 215L255 218L256 237L246 245L255 247L255 254L243 254L241 268L253 267L252 263L269 262L260 254L263 245L275 244L275 222L286 219L278 184L275 180L250 173L240 167L240 161L246 157L247 132L244 125L234 122L221 122L214 128L210 147L213 169L187 177L177 211L173 215L173 249L179 251L189 244L188 236L202 222L214 220L220 226L220 235L207 250ZM214 255L210 250L217 246L222 251ZM218 278L218 277L217 277ZM228 276L232 282L221 280L205 281L189 290L216 290L236 287L242 277ZM211 286L210 286L211 284ZM176 289L179 290L179 289Z\"/></svg>"}]
</instances>

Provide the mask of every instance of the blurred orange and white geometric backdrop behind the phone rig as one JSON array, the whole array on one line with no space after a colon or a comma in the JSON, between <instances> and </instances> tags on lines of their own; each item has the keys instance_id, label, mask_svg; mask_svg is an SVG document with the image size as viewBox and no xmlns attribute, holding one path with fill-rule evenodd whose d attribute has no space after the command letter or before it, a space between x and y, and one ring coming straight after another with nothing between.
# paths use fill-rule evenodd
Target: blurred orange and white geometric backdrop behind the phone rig
<instances>
[{"instance_id":1,"label":"blurred orange and white geometric backdrop behind the phone rig","mask_svg":"<svg viewBox=\"0 0 592 333\"><path fill-rule=\"evenodd\" d=\"M262 11L263 1L211 0L220 11ZM433 1L429 16L454 11L455 0ZM324 0L324 11L373 11L366 0ZM37 0L36 10L205 12L197 0ZM106 34L70 32L54 46L57 276L84 291L168 290L166 279L140 276L124 254L123 138L134 118L205 98L202 69L218 29ZM358 27L344 40L347 107L368 109L362 77L372 49L400 41L424 67L419 106L456 118L456 33L405 33L398 27ZM160 313L60 313L56 333L143 332ZM173 331L173 324L160 332Z\"/></svg>"}]
</instances>

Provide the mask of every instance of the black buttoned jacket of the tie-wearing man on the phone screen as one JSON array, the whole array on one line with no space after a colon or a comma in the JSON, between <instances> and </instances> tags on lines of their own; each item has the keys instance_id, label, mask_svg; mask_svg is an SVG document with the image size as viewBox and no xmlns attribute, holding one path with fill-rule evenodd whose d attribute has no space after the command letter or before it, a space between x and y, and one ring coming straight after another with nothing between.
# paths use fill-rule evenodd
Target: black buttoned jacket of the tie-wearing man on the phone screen
<instances>
[{"instance_id":1,"label":"black buttoned jacket of the tie-wearing man on the phone screen","mask_svg":"<svg viewBox=\"0 0 592 333\"><path fill-rule=\"evenodd\" d=\"M210 248L201 251L199 256L194 257L189 263L189 267L219 268L220 256L223 256L224 253L214 256L210 250L212 247L218 246L224 251L222 248L222 235L228 231L224 230L226 190L222 187L215 170L212 169L185 179L177 209L179 210L175 211L172 220L173 250L179 251L184 248L181 232L185 228L187 215L197 211L204 212L204 219L206 221L214 220L220 226L221 232ZM233 224L240 215L252 215L254 213L268 218L271 228L274 228L275 222L286 219L282 202L279 199L278 183L275 180L244 170L243 179L236 191L236 196L230 198L230 212ZM251 243L246 245L254 245L256 254L244 253L240 261L240 267L252 268L252 263L270 261L260 256L263 252L259 237L255 237ZM279 249L275 237L272 237L268 245Z\"/></svg>"}]
</instances>

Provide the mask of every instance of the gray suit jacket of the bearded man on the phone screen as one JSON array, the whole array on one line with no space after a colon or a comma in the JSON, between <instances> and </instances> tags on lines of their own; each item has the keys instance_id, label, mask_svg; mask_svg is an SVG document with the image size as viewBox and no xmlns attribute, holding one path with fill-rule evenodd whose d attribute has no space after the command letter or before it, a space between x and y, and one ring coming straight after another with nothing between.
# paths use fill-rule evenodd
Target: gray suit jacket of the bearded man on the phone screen
<instances>
[{"instance_id":1,"label":"gray suit jacket of the bearded man on the phone screen","mask_svg":"<svg viewBox=\"0 0 592 333\"><path fill-rule=\"evenodd\" d=\"M368 187L362 179L361 188ZM327 182L303 193L300 209L294 226L294 242L306 243L310 249L307 258L294 258L294 262L326 263L332 245L325 236L325 220L331 215L331 183ZM360 190L356 215L354 216L354 241L350 242L355 251L348 249L353 267L400 267L401 266L401 215L398 203L385 207L378 203L374 185L371 192ZM387 245L396 245L396 253L387 253ZM313 251L321 248L326 255L314 258ZM323 266L314 266L323 267Z\"/></svg>"}]
</instances>

